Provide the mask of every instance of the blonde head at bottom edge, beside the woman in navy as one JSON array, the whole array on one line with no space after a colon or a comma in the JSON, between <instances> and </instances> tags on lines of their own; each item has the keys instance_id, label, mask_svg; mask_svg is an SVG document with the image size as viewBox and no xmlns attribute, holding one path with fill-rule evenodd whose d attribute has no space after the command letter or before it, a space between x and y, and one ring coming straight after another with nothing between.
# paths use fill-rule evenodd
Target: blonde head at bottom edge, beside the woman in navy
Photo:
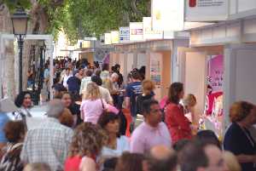
<instances>
[{"instance_id":1,"label":"blonde head at bottom edge, beside the woman in navy","mask_svg":"<svg viewBox=\"0 0 256 171\"><path fill-rule=\"evenodd\" d=\"M223 157L227 171L241 171L241 166L232 152L224 151Z\"/></svg>"}]
</instances>

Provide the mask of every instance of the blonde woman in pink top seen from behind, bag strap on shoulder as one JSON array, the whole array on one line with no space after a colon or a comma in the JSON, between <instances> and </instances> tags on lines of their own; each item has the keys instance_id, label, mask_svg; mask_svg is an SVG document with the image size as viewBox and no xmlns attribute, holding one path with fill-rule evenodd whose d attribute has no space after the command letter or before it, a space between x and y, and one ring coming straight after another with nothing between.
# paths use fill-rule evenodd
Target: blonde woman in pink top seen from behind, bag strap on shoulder
<instances>
[{"instance_id":1,"label":"blonde woman in pink top seen from behind, bag strap on shoulder","mask_svg":"<svg viewBox=\"0 0 256 171\"><path fill-rule=\"evenodd\" d=\"M102 112L107 111L107 108L107 102L102 99L99 87L96 83L89 83L80 107L82 120L96 124Z\"/></svg>"}]
</instances>

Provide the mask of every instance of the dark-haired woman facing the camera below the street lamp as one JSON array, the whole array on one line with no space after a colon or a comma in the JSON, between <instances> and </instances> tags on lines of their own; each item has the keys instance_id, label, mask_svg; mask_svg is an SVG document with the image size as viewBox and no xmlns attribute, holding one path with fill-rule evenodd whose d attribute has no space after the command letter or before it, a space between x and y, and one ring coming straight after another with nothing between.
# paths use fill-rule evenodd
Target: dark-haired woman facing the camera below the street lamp
<instances>
[{"instance_id":1,"label":"dark-haired woman facing the camera below the street lamp","mask_svg":"<svg viewBox=\"0 0 256 171\"><path fill-rule=\"evenodd\" d=\"M15 99L15 105L20 108L19 112L15 112L15 120L24 120L25 117L32 117L30 109L32 107L31 94L23 91Z\"/></svg>"}]
</instances>

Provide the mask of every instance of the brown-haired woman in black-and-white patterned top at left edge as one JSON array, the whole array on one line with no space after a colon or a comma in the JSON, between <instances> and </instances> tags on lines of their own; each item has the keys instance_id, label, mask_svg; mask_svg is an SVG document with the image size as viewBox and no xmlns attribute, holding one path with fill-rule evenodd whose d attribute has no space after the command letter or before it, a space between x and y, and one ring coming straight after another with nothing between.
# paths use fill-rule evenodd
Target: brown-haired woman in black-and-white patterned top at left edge
<instances>
[{"instance_id":1,"label":"brown-haired woman in black-and-white patterned top at left edge","mask_svg":"<svg viewBox=\"0 0 256 171\"><path fill-rule=\"evenodd\" d=\"M21 121L10 121L6 123L3 131L8 140L5 153L0 162L0 170L22 171L23 163L20 162L20 152L26 134L26 128Z\"/></svg>"}]
</instances>

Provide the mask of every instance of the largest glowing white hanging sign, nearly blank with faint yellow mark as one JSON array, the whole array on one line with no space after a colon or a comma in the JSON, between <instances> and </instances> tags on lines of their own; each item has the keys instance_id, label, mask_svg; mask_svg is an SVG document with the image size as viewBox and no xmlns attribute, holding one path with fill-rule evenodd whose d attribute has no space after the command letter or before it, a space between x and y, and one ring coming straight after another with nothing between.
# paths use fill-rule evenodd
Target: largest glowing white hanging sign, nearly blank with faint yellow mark
<instances>
[{"instance_id":1,"label":"largest glowing white hanging sign, nearly blank with faint yellow mark","mask_svg":"<svg viewBox=\"0 0 256 171\"><path fill-rule=\"evenodd\" d=\"M183 31L184 2L182 0L152 0L153 30Z\"/></svg>"}]
</instances>

